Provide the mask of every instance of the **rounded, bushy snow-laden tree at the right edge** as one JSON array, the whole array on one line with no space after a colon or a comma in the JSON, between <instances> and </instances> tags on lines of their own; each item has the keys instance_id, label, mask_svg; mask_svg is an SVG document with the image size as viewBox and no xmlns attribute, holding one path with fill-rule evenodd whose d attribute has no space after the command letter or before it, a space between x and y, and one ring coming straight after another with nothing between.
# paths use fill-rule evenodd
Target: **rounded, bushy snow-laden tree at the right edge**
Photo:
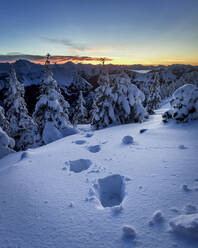
<instances>
[{"instance_id":1,"label":"rounded, bushy snow-laden tree at the right edge","mask_svg":"<svg viewBox=\"0 0 198 248\"><path fill-rule=\"evenodd\" d=\"M169 119L176 122L187 122L198 119L198 88L193 84L186 84L178 88L170 101L171 109L162 116L166 123Z\"/></svg>"}]
</instances>

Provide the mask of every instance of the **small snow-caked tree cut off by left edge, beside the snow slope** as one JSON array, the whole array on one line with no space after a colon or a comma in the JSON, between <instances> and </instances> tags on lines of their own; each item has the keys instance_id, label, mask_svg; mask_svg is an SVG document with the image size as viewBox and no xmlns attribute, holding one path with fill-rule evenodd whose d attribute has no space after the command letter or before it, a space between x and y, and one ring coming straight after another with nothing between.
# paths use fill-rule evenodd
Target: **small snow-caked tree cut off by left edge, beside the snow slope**
<instances>
[{"instance_id":1,"label":"small snow-caked tree cut off by left edge, beside the snow slope","mask_svg":"<svg viewBox=\"0 0 198 248\"><path fill-rule=\"evenodd\" d=\"M12 152L12 148L14 147L15 142L12 138L10 138L6 132L0 127L0 159Z\"/></svg>"}]
</instances>

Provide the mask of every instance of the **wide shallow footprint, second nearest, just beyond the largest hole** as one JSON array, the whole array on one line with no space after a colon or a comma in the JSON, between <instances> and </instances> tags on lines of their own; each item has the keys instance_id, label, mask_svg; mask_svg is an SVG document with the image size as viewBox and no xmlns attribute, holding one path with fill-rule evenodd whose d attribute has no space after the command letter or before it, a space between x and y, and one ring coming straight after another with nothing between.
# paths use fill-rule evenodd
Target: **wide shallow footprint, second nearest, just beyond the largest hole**
<instances>
[{"instance_id":1,"label":"wide shallow footprint, second nearest, just beyond the largest hole","mask_svg":"<svg viewBox=\"0 0 198 248\"><path fill-rule=\"evenodd\" d=\"M79 172L89 169L92 162L89 159L77 159L77 160L69 161L67 162L67 164L69 164L70 171L79 173Z\"/></svg>"}]
</instances>

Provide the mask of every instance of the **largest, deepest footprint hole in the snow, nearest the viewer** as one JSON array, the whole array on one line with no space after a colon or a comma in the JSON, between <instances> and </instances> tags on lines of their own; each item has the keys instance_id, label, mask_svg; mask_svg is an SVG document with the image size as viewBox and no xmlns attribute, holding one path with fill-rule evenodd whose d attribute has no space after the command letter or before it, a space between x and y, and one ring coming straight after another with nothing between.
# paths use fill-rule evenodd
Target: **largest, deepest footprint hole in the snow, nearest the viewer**
<instances>
[{"instance_id":1,"label":"largest, deepest footprint hole in the snow, nearest the viewer","mask_svg":"<svg viewBox=\"0 0 198 248\"><path fill-rule=\"evenodd\" d=\"M98 180L98 195L104 208L120 205L125 197L124 177L114 174L100 178Z\"/></svg>"}]
</instances>

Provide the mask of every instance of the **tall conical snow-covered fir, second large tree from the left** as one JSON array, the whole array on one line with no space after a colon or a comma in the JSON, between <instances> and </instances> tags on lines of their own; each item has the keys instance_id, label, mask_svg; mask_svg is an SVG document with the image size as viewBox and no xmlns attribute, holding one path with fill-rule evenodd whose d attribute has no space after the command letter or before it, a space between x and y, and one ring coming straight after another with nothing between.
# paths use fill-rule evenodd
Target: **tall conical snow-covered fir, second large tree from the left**
<instances>
[{"instance_id":1,"label":"tall conical snow-covered fir, second large tree from the left","mask_svg":"<svg viewBox=\"0 0 198 248\"><path fill-rule=\"evenodd\" d=\"M76 132L69 121L68 109L69 103L62 96L52 72L46 67L41 82L41 95L33 113L43 144Z\"/></svg>"}]
</instances>

